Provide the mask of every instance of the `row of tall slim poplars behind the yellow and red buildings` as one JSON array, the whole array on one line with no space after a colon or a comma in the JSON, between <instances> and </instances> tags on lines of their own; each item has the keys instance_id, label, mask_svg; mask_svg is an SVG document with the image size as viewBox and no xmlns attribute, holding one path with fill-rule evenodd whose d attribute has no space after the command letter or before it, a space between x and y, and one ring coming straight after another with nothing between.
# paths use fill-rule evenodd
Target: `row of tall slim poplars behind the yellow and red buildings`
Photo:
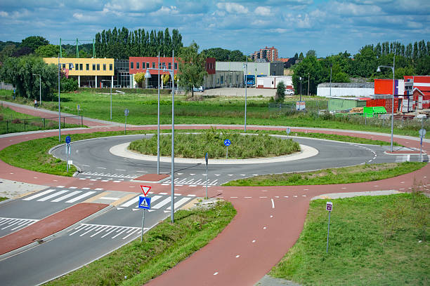
<instances>
[{"instance_id":1,"label":"row of tall slim poplars behind the yellow and red buildings","mask_svg":"<svg viewBox=\"0 0 430 286\"><path fill-rule=\"evenodd\" d=\"M163 31L145 31L137 29L129 31L126 27L112 31L108 29L96 34L96 56L113 57L115 59L127 59L129 57L170 57L172 50L178 55L183 46L182 36L177 29L169 28Z\"/></svg>"}]
</instances>

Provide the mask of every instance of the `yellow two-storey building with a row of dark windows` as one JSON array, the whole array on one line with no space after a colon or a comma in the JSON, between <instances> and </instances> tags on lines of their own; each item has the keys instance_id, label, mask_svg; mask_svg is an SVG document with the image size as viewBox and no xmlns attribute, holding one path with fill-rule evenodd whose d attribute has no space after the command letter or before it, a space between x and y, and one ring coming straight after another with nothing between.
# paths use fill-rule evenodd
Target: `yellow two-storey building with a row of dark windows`
<instances>
[{"instance_id":1,"label":"yellow two-storey building with a row of dark windows","mask_svg":"<svg viewBox=\"0 0 430 286\"><path fill-rule=\"evenodd\" d=\"M58 57L44 57L44 62L57 65ZM60 57L60 64L63 72L77 79L79 87L113 86L114 59Z\"/></svg>"}]
</instances>

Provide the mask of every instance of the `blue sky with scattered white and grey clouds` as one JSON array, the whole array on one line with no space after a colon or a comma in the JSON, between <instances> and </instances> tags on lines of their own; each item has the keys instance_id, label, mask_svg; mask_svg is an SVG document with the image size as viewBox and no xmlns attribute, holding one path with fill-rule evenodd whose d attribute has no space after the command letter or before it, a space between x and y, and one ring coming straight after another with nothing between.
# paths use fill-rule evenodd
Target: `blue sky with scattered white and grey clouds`
<instances>
[{"instance_id":1,"label":"blue sky with scattered white and grey clouds","mask_svg":"<svg viewBox=\"0 0 430 286\"><path fill-rule=\"evenodd\" d=\"M430 0L0 0L0 27L1 41L43 36L53 44L87 43L114 27L168 27L185 46L325 57L382 41L430 41Z\"/></svg>"}]
</instances>

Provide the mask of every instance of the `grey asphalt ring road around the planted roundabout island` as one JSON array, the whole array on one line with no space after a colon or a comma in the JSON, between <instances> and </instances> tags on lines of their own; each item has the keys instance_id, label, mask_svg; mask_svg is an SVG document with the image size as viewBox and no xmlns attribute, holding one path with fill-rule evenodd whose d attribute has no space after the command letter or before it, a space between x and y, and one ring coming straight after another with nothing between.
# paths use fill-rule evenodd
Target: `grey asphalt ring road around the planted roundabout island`
<instances>
[{"instance_id":1,"label":"grey asphalt ring road around the planted roundabout island","mask_svg":"<svg viewBox=\"0 0 430 286\"><path fill-rule=\"evenodd\" d=\"M150 137L152 135L146 135ZM133 158L125 158L110 153L110 148L126 142L141 139L145 135L126 135L119 137L104 137L72 142L72 161L82 172L78 177L91 180L112 180L121 182L134 179L147 173L157 172L157 163ZM215 186L235 179L267 175L283 172L304 172L325 168L337 168L364 163L388 163L401 161L417 161L418 156L387 155L389 147L376 145L351 144L330 140L293 137L294 141L318 150L316 156L297 161L259 164L230 164L214 165L209 160L209 175L206 177L206 167L200 163L175 163L175 184ZM400 147L396 147L400 149ZM52 154L66 159L65 147L60 145L53 149ZM170 162L160 162L160 172L170 173ZM164 182L169 184L170 181Z\"/></svg>"}]
</instances>

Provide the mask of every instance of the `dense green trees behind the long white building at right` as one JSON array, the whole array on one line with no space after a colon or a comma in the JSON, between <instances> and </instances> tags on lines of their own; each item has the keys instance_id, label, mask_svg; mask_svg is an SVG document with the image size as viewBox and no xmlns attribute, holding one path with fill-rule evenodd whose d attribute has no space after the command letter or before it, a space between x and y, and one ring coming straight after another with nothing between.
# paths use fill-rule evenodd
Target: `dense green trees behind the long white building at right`
<instances>
[{"instance_id":1,"label":"dense green trees behind the long white building at right","mask_svg":"<svg viewBox=\"0 0 430 286\"><path fill-rule=\"evenodd\" d=\"M409 52L411 46L412 51ZM296 53L290 59L291 62L297 62L292 66L294 70L292 76L294 88L299 93L301 83L303 94L308 93L308 86L309 92L315 94L319 83L330 82L330 67L332 67L333 83L348 83L350 78L353 77L365 78L369 81L373 81L373 79L391 79L393 76L391 69L382 69L382 72L377 72L376 70L379 65L392 66L393 57L395 57L396 64L396 79L403 79L403 76L406 75L430 74L430 49L427 46L430 48L430 42L425 44L424 40L415 42L413 45L410 43L407 46L403 46L398 42L386 42L378 43L376 46L363 46L353 57L345 51L344 53L320 59L317 59L315 50L309 50L306 53L306 57L303 53L300 53L300 55ZM405 47L404 51L403 47ZM407 50L408 53L406 53ZM300 77L302 81L300 81Z\"/></svg>"}]
</instances>

